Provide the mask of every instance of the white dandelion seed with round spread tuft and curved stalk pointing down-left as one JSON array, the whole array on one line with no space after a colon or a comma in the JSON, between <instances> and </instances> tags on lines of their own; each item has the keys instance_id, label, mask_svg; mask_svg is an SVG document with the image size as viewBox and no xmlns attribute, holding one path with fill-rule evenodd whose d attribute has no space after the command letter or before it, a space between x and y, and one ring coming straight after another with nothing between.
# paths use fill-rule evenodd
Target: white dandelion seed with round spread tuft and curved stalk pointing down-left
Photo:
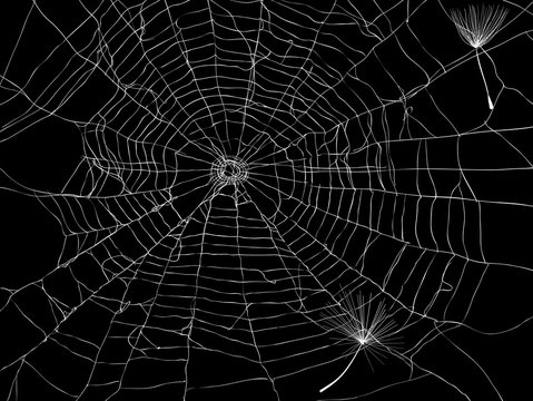
<instances>
[{"instance_id":1,"label":"white dandelion seed with round spread tuft and curved stalk pointing down-left","mask_svg":"<svg viewBox=\"0 0 533 401\"><path fill-rule=\"evenodd\" d=\"M329 384L320 389L326 391L348 371L359 351L369 352L378 359L398 346L396 324L389 317L383 301L372 310L372 301L365 302L364 296L357 295L356 304L349 295L344 295L338 306L325 315L324 326L340 334L340 341L352 344L352 360L344 371Z\"/></svg>"}]
</instances>

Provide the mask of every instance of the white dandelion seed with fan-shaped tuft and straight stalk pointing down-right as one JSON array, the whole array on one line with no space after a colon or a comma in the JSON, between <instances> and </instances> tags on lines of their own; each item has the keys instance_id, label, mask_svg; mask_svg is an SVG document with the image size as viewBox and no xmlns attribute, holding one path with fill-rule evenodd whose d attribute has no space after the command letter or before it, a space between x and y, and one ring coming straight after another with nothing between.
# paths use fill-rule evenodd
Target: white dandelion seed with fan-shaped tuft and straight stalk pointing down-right
<instances>
[{"instance_id":1,"label":"white dandelion seed with fan-shaped tuft and straight stalk pointing down-right","mask_svg":"<svg viewBox=\"0 0 533 401\"><path fill-rule=\"evenodd\" d=\"M505 8L493 6L470 6L464 10L452 10L450 17L457 28L457 32L466 45L475 49L475 57L480 66L481 77L485 85L488 108L492 110L494 104L492 102L488 87L486 85L485 75L480 61L480 51L482 47L488 43L492 38L499 32L509 10Z\"/></svg>"}]
</instances>

